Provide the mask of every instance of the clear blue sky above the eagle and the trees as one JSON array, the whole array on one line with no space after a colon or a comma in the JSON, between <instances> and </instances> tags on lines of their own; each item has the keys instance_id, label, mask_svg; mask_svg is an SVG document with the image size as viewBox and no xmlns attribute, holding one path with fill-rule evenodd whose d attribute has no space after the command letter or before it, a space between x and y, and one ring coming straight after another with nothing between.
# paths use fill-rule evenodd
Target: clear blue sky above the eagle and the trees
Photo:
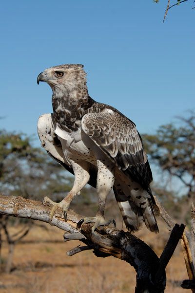
<instances>
[{"instance_id":1,"label":"clear blue sky above the eagle and the trees","mask_svg":"<svg viewBox=\"0 0 195 293\"><path fill-rule=\"evenodd\" d=\"M174 1L171 1L174 3ZM0 7L0 128L36 133L52 112L45 68L81 63L91 97L152 133L195 108L195 9L189 0L9 0Z\"/></svg>"}]
</instances>

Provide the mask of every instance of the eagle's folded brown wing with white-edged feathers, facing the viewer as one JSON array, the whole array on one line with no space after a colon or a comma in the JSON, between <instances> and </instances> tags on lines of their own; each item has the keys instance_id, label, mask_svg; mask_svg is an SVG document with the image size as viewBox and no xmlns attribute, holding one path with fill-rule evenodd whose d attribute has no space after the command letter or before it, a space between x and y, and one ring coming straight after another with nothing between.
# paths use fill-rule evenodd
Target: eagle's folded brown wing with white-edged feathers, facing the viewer
<instances>
[{"instance_id":1,"label":"eagle's folded brown wing with white-edged feathers, facing the viewer","mask_svg":"<svg viewBox=\"0 0 195 293\"><path fill-rule=\"evenodd\" d=\"M85 114L82 130L109 156L127 176L147 189L152 172L135 124L119 112L107 109Z\"/></svg>"}]
</instances>

